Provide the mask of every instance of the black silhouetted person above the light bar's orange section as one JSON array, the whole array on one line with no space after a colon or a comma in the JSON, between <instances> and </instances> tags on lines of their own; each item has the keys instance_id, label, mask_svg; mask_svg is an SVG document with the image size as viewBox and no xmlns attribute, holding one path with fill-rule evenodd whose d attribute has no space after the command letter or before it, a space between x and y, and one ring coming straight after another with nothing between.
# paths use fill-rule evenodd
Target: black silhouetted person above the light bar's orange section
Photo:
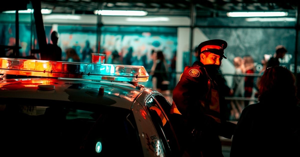
<instances>
[{"instance_id":1,"label":"black silhouetted person above the light bar's orange section","mask_svg":"<svg viewBox=\"0 0 300 157\"><path fill-rule=\"evenodd\" d=\"M41 60L61 61L61 48L57 45L58 34L56 31L51 33L53 44L47 44L44 53L41 53Z\"/></svg>"}]
</instances>

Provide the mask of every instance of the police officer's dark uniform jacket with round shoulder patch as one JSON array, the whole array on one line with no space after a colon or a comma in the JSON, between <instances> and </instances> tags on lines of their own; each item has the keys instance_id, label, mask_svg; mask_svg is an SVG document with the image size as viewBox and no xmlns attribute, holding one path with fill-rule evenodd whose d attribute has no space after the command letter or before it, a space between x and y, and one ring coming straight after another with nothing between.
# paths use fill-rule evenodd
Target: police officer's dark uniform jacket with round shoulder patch
<instances>
[{"instance_id":1,"label":"police officer's dark uniform jacket with round shoulder patch","mask_svg":"<svg viewBox=\"0 0 300 157\"><path fill-rule=\"evenodd\" d=\"M226 122L223 116L224 107L221 107L219 103L222 100L220 100L218 85L215 82L216 77L211 71L208 73L205 66L198 61L185 69L173 90L173 101L184 119L185 132L196 133L195 137L199 138L196 141L202 143L199 147L202 147L204 151L210 143L211 152L222 154L218 135L231 138L235 124Z\"/></svg>"}]
</instances>

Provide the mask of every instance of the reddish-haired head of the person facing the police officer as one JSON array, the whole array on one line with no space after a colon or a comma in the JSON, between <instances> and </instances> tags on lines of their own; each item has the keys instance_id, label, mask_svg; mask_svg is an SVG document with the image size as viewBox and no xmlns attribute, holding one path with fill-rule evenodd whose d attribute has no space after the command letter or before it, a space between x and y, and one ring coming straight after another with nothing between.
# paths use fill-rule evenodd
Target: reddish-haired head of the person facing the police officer
<instances>
[{"instance_id":1,"label":"reddish-haired head of the person facing the police officer","mask_svg":"<svg viewBox=\"0 0 300 157\"><path fill-rule=\"evenodd\" d=\"M297 104L295 76L287 68L267 68L259 81L259 101Z\"/></svg>"}]
</instances>

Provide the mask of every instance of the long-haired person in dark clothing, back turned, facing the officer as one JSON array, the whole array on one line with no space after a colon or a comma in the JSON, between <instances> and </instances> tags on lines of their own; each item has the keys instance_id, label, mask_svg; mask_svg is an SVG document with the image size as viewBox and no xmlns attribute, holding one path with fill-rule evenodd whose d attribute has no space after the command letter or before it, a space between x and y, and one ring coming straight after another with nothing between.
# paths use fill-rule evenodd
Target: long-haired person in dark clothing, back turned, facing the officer
<instances>
[{"instance_id":1,"label":"long-haired person in dark clothing, back turned, facing the officer","mask_svg":"<svg viewBox=\"0 0 300 157\"><path fill-rule=\"evenodd\" d=\"M259 82L259 103L238 120L230 156L300 156L300 107L295 76L285 67L266 69Z\"/></svg>"}]
</instances>

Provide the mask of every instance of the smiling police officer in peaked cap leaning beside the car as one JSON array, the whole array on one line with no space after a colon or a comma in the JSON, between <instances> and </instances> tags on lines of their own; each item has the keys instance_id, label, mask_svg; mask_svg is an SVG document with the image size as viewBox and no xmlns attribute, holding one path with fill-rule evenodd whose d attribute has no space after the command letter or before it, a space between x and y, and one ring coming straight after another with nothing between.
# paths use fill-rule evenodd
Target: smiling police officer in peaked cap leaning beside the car
<instances>
[{"instance_id":1,"label":"smiling police officer in peaked cap leaning beside the car","mask_svg":"<svg viewBox=\"0 0 300 157\"><path fill-rule=\"evenodd\" d=\"M222 97L216 83L226 47L220 39L199 44L199 61L184 68L173 90L170 113L178 120L175 129L187 156L223 156L219 135L231 138L235 129L235 124L226 122L226 106L220 105Z\"/></svg>"}]
</instances>

